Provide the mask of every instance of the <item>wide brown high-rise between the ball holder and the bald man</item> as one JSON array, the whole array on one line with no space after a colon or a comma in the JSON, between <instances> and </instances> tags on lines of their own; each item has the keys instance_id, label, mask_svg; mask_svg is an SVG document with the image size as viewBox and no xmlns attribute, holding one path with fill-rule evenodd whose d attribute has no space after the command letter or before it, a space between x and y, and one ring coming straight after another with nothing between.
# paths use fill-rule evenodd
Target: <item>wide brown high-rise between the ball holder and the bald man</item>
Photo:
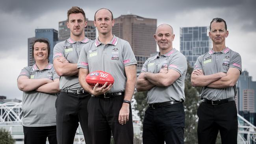
<instances>
[{"instance_id":1,"label":"wide brown high-rise between the ball holder and the bald man","mask_svg":"<svg viewBox=\"0 0 256 144\"><path fill-rule=\"evenodd\" d=\"M137 72L141 71L143 63L156 53L156 33L157 19L143 18L137 15L121 15L115 18L115 25L112 33L126 41L132 47L137 59Z\"/></svg>"}]
</instances>

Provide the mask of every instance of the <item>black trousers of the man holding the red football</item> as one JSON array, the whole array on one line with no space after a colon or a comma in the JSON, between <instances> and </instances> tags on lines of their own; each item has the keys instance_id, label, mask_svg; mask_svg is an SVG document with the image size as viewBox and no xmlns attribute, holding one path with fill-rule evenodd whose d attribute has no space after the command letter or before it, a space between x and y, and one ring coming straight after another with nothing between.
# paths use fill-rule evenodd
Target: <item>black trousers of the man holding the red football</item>
<instances>
[{"instance_id":1,"label":"black trousers of the man holding the red football","mask_svg":"<svg viewBox=\"0 0 256 144\"><path fill-rule=\"evenodd\" d=\"M88 126L92 133L92 144L109 144L111 131L115 144L133 144L131 105L128 122L121 125L118 121L123 100L124 96L114 98L91 97L88 102Z\"/></svg>"}]
</instances>

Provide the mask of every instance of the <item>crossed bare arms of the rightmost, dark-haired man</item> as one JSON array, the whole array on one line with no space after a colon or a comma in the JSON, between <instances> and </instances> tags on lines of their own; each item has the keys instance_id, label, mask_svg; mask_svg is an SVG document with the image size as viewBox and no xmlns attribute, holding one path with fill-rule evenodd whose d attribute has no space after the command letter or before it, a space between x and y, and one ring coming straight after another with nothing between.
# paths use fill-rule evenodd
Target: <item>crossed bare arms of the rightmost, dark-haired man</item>
<instances>
[{"instance_id":1,"label":"crossed bare arms of the rightmost, dark-haired man","mask_svg":"<svg viewBox=\"0 0 256 144\"><path fill-rule=\"evenodd\" d=\"M196 69L191 74L191 84L193 87L224 89L236 85L239 75L240 71L237 68L229 68L227 73L218 72L206 76L203 70Z\"/></svg>"}]
</instances>

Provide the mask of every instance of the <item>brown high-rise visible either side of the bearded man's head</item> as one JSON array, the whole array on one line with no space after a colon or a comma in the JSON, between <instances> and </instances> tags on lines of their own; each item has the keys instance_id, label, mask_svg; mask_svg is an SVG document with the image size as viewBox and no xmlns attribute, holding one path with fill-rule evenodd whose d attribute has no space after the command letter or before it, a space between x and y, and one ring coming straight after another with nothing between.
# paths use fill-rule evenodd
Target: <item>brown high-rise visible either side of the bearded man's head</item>
<instances>
[{"instance_id":1,"label":"brown high-rise visible either side of the bearded man's head","mask_svg":"<svg viewBox=\"0 0 256 144\"><path fill-rule=\"evenodd\" d=\"M88 39L95 40L96 39L96 28L94 26L93 20L88 20L87 26L84 29L84 35ZM65 41L70 37L70 30L67 28L67 20L59 22L59 41Z\"/></svg>"}]
</instances>

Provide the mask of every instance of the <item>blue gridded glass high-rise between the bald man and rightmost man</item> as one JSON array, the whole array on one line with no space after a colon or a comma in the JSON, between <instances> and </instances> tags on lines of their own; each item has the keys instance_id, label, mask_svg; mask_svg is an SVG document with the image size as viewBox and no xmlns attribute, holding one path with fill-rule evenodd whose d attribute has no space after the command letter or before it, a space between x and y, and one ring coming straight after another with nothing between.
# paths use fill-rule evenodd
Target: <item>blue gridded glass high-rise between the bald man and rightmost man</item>
<instances>
[{"instance_id":1,"label":"blue gridded glass high-rise between the bald man and rightmost man","mask_svg":"<svg viewBox=\"0 0 256 144\"><path fill-rule=\"evenodd\" d=\"M186 56L190 66L194 66L197 57L211 48L211 39L207 36L208 27L180 28L180 52Z\"/></svg>"}]
</instances>

